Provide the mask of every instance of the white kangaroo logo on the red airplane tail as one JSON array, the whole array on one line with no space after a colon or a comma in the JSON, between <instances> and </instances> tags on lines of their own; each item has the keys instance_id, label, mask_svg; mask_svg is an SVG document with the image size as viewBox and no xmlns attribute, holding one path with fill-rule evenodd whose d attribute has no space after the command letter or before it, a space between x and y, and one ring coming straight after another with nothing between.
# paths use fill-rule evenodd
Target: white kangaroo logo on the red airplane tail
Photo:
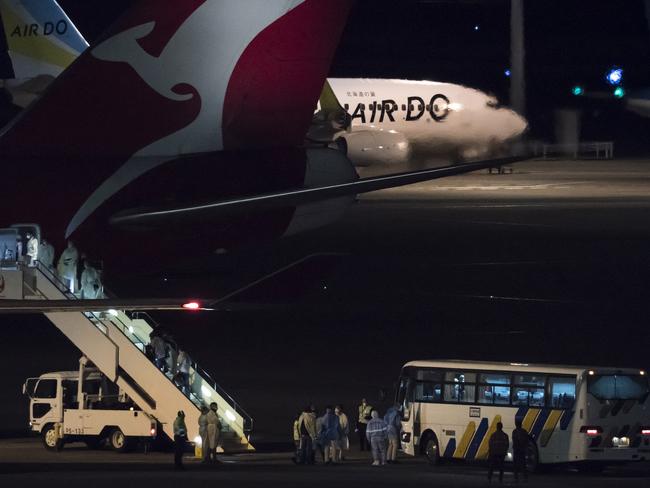
<instances>
[{"instance_id":1,"label":"white kangaroo logo on the red airplane tail","mask_svg":"<svg viewBox=\"0 0 650 488\"><path fill-rule=\"evenodd\" d=\"M260 32L305 1L206 1L181 25L159 57L151 56L137 42L153 32L155 22L123 31L95 47L94 57L128 64L165 98L188 101L195 95L172 90L179 84L193 87L201 109L189 125L140 149L102 183L77 211L66 236L103 202L155 167L184 154L222 150L224 100L239 59Z\"/></svg>"}]
</instances>

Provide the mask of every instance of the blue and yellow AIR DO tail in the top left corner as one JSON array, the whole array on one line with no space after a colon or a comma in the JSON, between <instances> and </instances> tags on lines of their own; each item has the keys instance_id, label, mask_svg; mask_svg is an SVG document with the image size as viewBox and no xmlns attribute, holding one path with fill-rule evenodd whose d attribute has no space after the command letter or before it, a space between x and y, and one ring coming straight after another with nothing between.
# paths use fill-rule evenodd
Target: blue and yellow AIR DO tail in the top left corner
<instances>
[{"instance_id":1,"label":"blue and yellow AIR DO tail in the top left corner","mask_svg":"<svg viewBox=\"0 0 650 488\"><path fill-rule=\"evenodd\" d=\"M88 43L56 0L0 0L0 78L56 78Z\"/></svg>"}]
</instances>

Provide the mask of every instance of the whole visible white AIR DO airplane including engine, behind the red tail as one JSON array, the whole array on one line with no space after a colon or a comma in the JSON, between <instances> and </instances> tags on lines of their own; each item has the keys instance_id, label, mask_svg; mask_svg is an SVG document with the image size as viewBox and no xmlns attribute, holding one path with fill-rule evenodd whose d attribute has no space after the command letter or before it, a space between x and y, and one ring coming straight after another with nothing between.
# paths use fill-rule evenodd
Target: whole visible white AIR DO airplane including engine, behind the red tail
<instances>
[{"instance_id":1,"label":"whole visible white AIR DO airplane including engine, behind the red tail","mask_svg":"<svg viewBox=\"0 0 650 488\"><path fill-rule=\"evenodd\" d=\"M496 156L527 129L515 111L452 83L329 78L310 132L359 167Z\"/></svg>"}]
</instances>

